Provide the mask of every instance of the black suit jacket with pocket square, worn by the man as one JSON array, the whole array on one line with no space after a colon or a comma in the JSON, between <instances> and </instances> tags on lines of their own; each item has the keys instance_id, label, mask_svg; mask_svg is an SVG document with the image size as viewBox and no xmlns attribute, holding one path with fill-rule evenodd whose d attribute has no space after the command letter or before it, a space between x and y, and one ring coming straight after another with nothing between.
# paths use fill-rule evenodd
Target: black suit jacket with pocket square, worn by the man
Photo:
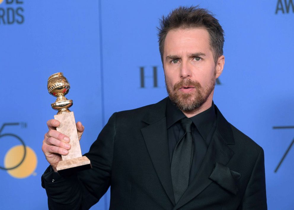
<instances>
[{"instance_id":1,"label":"black suit jacket with pocket square, worn by the man","mask_svg":"<svg viewBox=\"0 0 294 210\"><path fill-rule=\"evenodd\" d=\"M42 176L49 208L89 209L111 186L110 209L267 209L263 149L218 109L202 165L175 203L166 101L114 113L85 154L93 169L58 177L49 167Z\"/></svg>"}]
</instances>

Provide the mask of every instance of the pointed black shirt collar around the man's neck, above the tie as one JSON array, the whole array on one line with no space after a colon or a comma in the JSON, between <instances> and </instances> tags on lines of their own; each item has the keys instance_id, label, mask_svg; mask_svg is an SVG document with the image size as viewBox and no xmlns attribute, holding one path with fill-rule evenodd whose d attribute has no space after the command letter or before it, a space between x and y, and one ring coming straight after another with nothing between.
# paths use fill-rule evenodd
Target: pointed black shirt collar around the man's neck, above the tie
<instances>
[{"instance_id":1,"label":"pointed black shirt collar around the man's neck, above the tie","mask_svg":"<svg viewBox=\"0 0 294 210\"><path fill-rule=\"evenodd\" d=\"M166 117L167 117L167 129L170 128L173 124L178 122L180 119L186 117L185 114L172 103L170 98L167 99L166 107ZM196 114L193 117L190 117L196 128L198 129L200 135L206 139L208 133L214 125L216 120L215 106L212 101L212 105L209 109Z\"/></svg>"}]
</instances>

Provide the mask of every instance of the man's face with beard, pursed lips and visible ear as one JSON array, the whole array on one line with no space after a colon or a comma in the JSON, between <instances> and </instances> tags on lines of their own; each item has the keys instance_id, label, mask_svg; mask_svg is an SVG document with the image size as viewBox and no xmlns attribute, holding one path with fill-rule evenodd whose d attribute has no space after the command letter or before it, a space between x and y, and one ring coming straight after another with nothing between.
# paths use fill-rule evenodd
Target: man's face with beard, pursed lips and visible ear
<instances>
[{"instance_id":1,"label":"man's face with beard, pursed lips and visible ear","mask_svg":"<svg viewBox=\"0 0 294 210\"><path fill-rule=\"evenodd\" d=\"M199 109L208 98L212 101L215 80L223 65L219 61L215 65L209 41L203 28L171 30L165 38L163 67L167 92L184 112ZM224 64L224 58L222 61Z\"/></svg>"}]
</instances>

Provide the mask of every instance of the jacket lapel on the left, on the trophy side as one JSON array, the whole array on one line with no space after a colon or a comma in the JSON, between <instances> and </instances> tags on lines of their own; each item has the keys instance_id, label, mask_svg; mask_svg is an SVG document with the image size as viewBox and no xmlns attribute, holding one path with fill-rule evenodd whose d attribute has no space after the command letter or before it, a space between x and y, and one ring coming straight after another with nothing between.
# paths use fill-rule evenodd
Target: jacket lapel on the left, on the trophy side
<instances>
[{"instance_id":1,"label":"jacket lapel on the left, on the trophy side","mask_svg":"<svg viewBox=\"0 0 294 210\"><path fill-rule=\"evenodd\" d=\"M147 127L141 129L154 169L170 201L175 205L170 174L170 160L167 143L166 99L154 104L144 117Z\"/></svg>"}]
</instances>

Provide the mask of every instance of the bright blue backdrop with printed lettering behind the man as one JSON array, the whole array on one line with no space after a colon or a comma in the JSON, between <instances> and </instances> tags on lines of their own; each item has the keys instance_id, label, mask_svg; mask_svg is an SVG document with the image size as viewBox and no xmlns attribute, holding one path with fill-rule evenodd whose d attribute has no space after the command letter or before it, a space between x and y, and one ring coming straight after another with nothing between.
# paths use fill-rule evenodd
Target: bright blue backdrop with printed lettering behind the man
<instances>
[{"instance_id":1,"label":"bright blue backdrop with printed lettering behind the man","mask_svg":"<svg viewBox=\"0 0 294 210\"><path fill-rule=\"evenodd\" d=\"M0 0L0 208L47 209L41 145L56 114L47 78L63 72L71 83L85 153L113 112L167 96L156 26L179 5L200 4L226 33L215 104L264 148L269 209L293 209L293 3ZM92 207L108 208L109 192Z\"/></svg>"}]
</instances>

